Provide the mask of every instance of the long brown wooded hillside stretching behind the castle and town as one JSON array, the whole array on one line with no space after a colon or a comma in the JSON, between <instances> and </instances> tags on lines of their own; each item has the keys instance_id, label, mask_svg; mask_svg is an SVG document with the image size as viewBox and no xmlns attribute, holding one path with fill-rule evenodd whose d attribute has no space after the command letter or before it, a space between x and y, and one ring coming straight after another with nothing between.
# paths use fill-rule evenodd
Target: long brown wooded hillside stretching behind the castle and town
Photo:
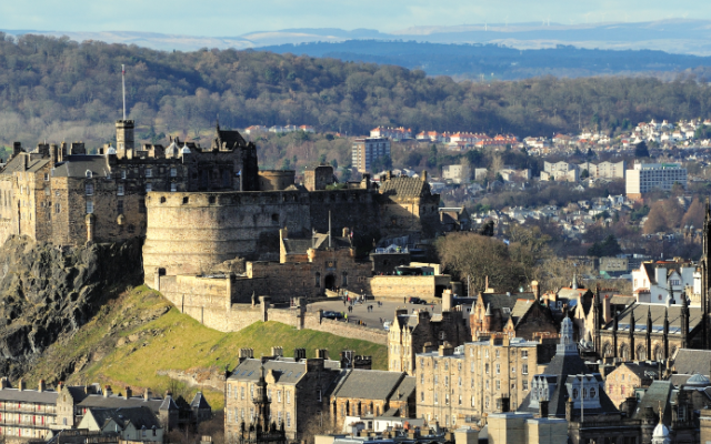
<instances>
[{"instance_id":1,"label":"long brown wooded hillside stretching behind the castle and town","mask_svg":"<svg viewBox=\"0 0 711 444\"><path fill-rule=\"evenodd\" d=\"M141 140L200 138L223 127L311 124L362 134L378 124L414 131L523 135L629 128L642 120L711 115L705 82L651 78L538 78L455 82L421 70L259 51L161 52L0 33L0 141L113 139L127 65L130 118Z\"/></svg>"}]
</instances>

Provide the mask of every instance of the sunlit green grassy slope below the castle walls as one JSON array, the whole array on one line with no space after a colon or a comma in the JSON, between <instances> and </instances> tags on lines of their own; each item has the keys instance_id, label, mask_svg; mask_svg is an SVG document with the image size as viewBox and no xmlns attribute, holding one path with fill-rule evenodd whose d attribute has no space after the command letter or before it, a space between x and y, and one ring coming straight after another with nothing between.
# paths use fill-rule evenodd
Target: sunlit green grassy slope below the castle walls
<instances>
[{"instance_id":1,"label":"sunlit green grassy slope below the castle walls","mask_svg":"<svg viewBox=\"0 0 711 444\"><path fill-rule=\"evenodd\" d=\"M117 345L127 339L132 341ZM385 369L387 363L384 345L312 330L297 331L277 322L259 322L237 333L221 333L181 314L159 293L141 286L111 301L72 339L52 345L28 379L51 381L57 362L73 361L78 364L69 383L101 382L111 384L114 392L130 385L134 391L150 387L161 393L170 385L170 379L157 375L159 370L221 372L226 365L236 365L239 349L252 347L260 356L270 354L272 345L282 346L288 356L294 347L306 347L308 356L313 356L316 349L329 349L332 355L348 349L372 355L374 369ZM196 391L184 392L191 396ZM213 408L222 407L220 393L206 390L206 395Z\"/></svg>"}]
</instances>

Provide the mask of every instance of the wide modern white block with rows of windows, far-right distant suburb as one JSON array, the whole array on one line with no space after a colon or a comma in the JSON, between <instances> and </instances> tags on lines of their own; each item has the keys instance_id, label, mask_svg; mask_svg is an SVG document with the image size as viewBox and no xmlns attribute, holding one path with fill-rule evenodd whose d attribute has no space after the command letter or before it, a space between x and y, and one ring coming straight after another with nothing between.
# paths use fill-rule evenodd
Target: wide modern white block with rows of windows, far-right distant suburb
<instances>
[{"instance_id":1,"label":"wide modern white block with rows of windows, far-right distant suburb","mask_svg":"<svg viewBox=\"0 0 711 444\"><path fill-rule=\"evenodd\" d=\"M630 199L640 199L652 190L671 191L674 183L687 188L687 169L679 163L635 163L627 171L625 191Z\"/></svg>"}]
</instances>

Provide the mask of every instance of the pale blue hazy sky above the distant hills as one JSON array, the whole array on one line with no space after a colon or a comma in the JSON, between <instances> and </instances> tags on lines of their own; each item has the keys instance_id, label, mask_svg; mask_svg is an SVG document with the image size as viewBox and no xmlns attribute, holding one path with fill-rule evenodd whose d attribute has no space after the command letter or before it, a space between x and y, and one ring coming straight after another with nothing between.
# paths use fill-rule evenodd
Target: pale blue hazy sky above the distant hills
<instances>
[{"instance_id":1,"label":"pale blue hazy sky above the distant hills","mask_svg":"<svg viewBox=\"0 0 711 444\"><path fill-rule=\"evenodd\" d=\"M23 0L0 1L0 29L238 37L290 28L393 32L414 26L711 20L708 0Z\"/></svg>"}]
</instances>

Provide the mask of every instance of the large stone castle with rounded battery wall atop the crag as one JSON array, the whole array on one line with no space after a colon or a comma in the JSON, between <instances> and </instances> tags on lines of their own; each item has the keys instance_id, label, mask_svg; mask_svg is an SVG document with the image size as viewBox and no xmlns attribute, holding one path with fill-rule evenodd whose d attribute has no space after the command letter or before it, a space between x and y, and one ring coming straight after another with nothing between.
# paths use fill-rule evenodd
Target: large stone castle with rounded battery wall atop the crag
<instances>
[{"instance_id":1,"label":"large stone castle with rounded battery wall atop the crag","mask_svg":"<svg viewBox=\"0 0 711 444\"><path fill-rule=\"evenodd\" d=\"M294 171L260 171L256 145L219 124L209 148L178 138L139 148L132 120L116 129L117 147L97 154L81 142L31 152L16 142L0 171L0 241L142 238L148 285L177 306L219 294L229 309L254 293L288 301L337 286L368 292L373 265L357 244L441 232L439 194L425 173L337 184L332 167L321 164L298 184ZM237 259L250 261L246 270L232 266Z\"/></svg>"}]
</instances>

